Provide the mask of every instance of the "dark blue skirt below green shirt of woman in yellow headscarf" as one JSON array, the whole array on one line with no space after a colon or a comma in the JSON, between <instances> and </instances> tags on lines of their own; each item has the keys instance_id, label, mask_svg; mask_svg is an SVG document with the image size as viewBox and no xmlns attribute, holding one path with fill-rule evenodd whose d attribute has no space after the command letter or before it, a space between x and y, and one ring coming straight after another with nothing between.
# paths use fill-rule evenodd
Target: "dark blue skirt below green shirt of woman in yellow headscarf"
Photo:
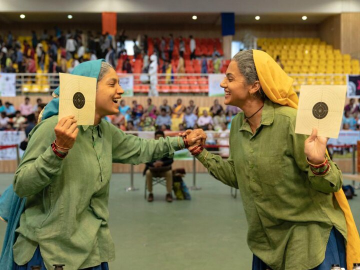
<instances>
[{"instance_id":1,"label":"dark blue skirt below green shirt of woman in yellow headscarf","mask_svg":"<svg viewBox=\"0 0 360 270\"><path fill-rule=\"evenodd\" d=\"M345 242L342 234L332 227L329 240L326 245L325 259L315 268L310 270L328 270L331 264L339 264L340 267L346 268ZM271 269L255 254L252 257L252 270Z\"/></svg>"}]
</instances>

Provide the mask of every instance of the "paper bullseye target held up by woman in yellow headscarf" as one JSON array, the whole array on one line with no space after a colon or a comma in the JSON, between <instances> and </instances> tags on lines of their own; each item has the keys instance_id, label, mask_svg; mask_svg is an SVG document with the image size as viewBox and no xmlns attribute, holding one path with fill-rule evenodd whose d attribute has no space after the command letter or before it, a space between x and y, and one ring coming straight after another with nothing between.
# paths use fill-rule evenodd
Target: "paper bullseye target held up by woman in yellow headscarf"
<instances>
[{"instance_id":1,"label":"paper bullseye target held up by woman in yellow headscarf","mask_svg":"<svg viewBox=\"0 0 360 270\"><path fill-rule=\"evenodd\" d=\"M302 85L295 133L337 138L345 103L345 85Z\"/></svg>"}]
</instances>

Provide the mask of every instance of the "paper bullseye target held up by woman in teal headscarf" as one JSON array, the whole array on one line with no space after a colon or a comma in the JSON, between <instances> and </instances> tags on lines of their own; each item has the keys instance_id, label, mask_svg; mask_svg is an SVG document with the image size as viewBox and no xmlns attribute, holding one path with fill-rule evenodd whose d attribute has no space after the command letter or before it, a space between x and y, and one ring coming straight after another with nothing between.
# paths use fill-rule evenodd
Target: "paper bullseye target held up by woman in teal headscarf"
<instances>
[{"instance_id":1,"label":"paper bullseye target held up by woman in teal headscarf","mask_svg":"<svg viewBox=\"0 0 360 270\"><path fill-rule=\"evenodd\" d=\"M78 125L92 125L95 117L96 78L59 73L59 116L75 115Z\"/></svg>"}]
</instances>

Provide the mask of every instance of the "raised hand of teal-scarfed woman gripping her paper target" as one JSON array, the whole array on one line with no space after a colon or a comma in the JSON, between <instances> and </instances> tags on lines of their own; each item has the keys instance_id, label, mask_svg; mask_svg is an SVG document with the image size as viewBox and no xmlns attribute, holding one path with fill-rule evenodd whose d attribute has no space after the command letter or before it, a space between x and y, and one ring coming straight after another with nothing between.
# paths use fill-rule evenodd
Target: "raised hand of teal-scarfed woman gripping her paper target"
<instances>
[{"instance_id":1,"label":"raised hand of teal-scarfed woman gripping her paper target","mask_svg":"<svg viewBox=\"0 0 360 270\"><path fill-rule=\"evenodd\" d=\"M72 148L75 143L78 128L74 115L61 118L56 124L54 131L56 135L56 144L64 148ZM68 149L56 147L59 151L67 152Z\"/></svg>"}]
</instances>

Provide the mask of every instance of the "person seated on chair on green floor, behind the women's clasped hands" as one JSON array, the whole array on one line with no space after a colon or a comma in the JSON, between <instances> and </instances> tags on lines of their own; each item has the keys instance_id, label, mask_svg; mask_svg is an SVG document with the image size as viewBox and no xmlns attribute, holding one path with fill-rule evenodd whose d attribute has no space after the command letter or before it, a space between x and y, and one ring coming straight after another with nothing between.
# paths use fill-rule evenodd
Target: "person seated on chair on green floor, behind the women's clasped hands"
<instances>
[{"instance_id":1,"label":"person seated on chair on green floor, behind the women's clasped hands","mask_svg":"<svg viewBox=\"0 0 360 270\"><path fill-rule=\"evenodd\" d=\"M161 130L155 132L155 139L164 138L165 134ZM163 157L159 160L146 163L143 174L146 175L147 190L149 191L147 201L153 201L152 193L152 177L165 177L166 179L166 201L172 201L172 170L171 164L173 159L170 157Z\"/></svg>"}]
</instances>

